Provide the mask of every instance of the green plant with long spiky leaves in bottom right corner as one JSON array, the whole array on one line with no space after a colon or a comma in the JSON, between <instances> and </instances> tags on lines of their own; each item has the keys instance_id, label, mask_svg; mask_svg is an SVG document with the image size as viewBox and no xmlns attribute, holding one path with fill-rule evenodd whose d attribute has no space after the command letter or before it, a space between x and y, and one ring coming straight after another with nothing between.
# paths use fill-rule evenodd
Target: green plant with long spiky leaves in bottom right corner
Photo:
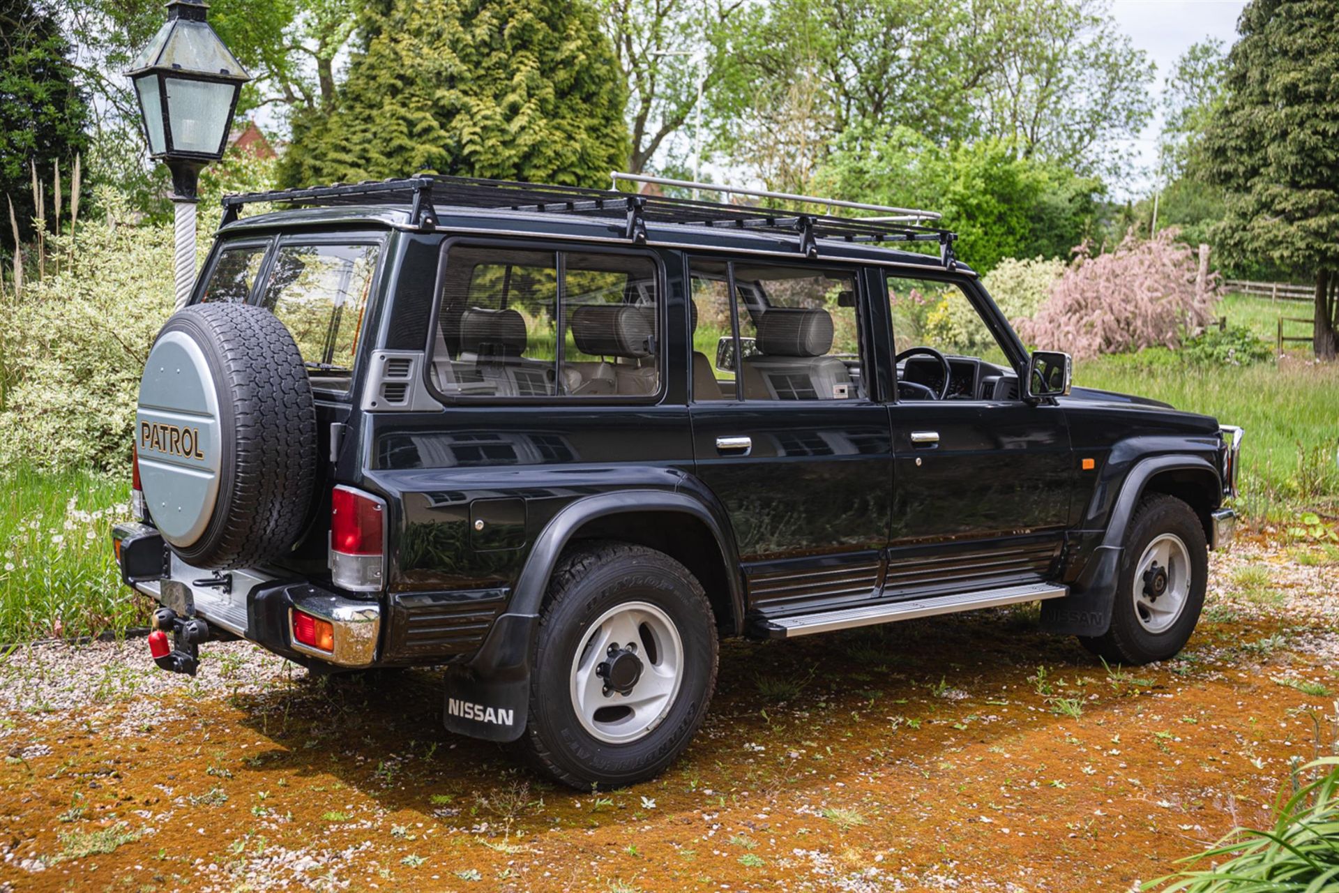
<instances>
[{"instance_id":1,"label":"green plant with long spiky leaves in bottom right corner","mask_svg":"<svg viewBox=\"0 0 1339 893\"><path fill-rule=\"evenodd\" d=\"M1326 774L1297 786L1271 830L1239 827L1185 862L1231 856L1205 870L1145 884L1161 893L1327 893L1339 889L1339 756L1308 763ZM1166 885L1166 886L1164 886Z\"/></svg>"}]
</instances>

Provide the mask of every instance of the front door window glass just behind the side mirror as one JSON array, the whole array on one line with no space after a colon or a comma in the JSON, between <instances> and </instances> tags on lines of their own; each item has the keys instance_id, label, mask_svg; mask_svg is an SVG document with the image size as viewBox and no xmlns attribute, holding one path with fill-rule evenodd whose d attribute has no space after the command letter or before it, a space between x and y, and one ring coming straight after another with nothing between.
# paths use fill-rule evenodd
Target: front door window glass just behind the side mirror
<instances>
[{"instance_id":1,"label":"front door window glass just behind the side mirror","mask_svg":"<svg viewBox=\"0 0 1339 893\"><path fill-rule=\"evenodd\" d=\"M888 303L898 352L932 347L945 356L971 356L1010 366L986 320L957 284L889 276Z\"/></svg>"}]
</instances>

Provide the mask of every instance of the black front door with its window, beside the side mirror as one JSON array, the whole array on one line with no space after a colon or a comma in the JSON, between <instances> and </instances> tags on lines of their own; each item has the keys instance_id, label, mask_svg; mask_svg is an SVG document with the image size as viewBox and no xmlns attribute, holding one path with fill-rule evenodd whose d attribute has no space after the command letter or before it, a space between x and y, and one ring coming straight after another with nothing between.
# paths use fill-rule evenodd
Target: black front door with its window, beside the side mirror
<instances>
[{"instance_id":1,"label":"black front door with its window, beside the side mirror","mask_svg":"<svg viewBox=\"0 0 1339 893\"><path fill-rule=\"evenodd\" d=\"M1075 475L1065 412L1019 396L1022 349L987 325L984 292L961 280L885 277L896 351L931 347L951 366L945 399L901 387L892 422L893 509L885 593L960 592L1047 576ZM983 308L987 316L983 316ZM898 380L939 391L928 355Z\"/></svg>"}]
</instances>

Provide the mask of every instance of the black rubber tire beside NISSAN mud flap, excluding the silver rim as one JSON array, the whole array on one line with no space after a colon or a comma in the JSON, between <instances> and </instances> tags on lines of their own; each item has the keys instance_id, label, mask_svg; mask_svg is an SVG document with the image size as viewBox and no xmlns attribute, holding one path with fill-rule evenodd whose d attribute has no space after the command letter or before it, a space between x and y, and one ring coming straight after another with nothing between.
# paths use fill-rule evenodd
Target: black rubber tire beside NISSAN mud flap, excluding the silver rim
<instances>
[{"instance_id":1,"label":"black rubber tire beside NISSAN mud flap, excluding the silver rim","mask_svg":"<svg viewBox=\"0 0 1339 893\"><path fill-rule=\"evenodd\" d=\"M593 736L577 716L572 667L590 625L611 608L648 602L675 624L682 680L664 718L631 743ZM702 585L670 556L623 542L590 542L553 572L530 672L530 708L517 747L550 778L589 791L660 774L688 746L716 687L716 624Z\"/></svg>"}]
</instances>

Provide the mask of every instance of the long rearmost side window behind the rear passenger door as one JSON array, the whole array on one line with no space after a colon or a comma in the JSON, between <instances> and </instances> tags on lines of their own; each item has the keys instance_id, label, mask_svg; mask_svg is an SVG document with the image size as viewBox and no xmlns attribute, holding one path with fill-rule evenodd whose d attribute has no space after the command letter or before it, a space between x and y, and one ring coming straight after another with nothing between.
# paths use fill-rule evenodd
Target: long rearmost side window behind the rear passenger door
<instances>
[{"instance_id":1,"label":"long rearmost side window behind the rear passenger door","mask_svg":"<svg viewBox=\"0 0 1339 893\"><path fill-rule=\"evenodd\" d=\"M449 396L651 396L660 391L657 307L645 257L454 246L432 382Z\"/></svg>"}]
</instances>

